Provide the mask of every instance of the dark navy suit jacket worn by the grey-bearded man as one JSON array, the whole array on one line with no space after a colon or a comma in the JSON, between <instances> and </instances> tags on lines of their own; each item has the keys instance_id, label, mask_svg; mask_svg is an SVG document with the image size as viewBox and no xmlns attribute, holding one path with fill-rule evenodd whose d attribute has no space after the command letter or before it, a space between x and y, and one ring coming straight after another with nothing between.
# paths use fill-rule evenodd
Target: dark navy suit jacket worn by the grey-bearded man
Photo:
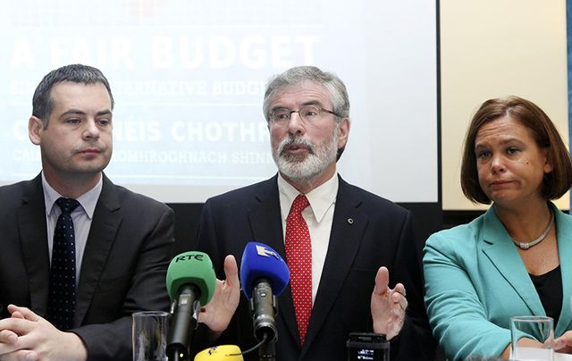
<instances>
[{"instance_id":1,"label":"dark navy suit jacket worn by the grey-bearded man","mask_svg":"<svg viewBox=\"0 0 572 361\"><path fill-rule=\"evenodd\" d=\"M196 248L211 256L219 279L223 259L256 240L285 258L276 176L268 181L210 198L201 215ZM390 270L390 287L405 285L408 313L397 340L391 342L395 360L433 360L435 341L423 303L421 250L416 244L412 215L390 201L340 178L324 271L300 345L294 306L288 287L279 297L277 315L279 361L346 360L349 332L372 332L370 312L374 278L380 266ZM217 344L256 345L246 298ZM256 360L257 352L245 356Z\"/></svg>"}]
</instances>

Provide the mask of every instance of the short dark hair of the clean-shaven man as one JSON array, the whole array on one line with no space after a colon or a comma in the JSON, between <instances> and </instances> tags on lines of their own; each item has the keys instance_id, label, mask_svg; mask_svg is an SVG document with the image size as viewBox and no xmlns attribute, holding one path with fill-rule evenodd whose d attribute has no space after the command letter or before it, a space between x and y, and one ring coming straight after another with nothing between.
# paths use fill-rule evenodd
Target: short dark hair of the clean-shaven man
<instances>
[{"instance_id":1,"label":"short dark hair of the clean-shaven man","mask_svg":"<svg viewBox=\"0 0 572 361\"><path fill-rule=\"evenodd\" d=\"M109 93L111 108L114 109L114 96L111 94L109 81L105 75L97 68L82 64L65 65L61 68L50 71L42 79L32 98L32 115L44 121L44 128L47 128L49 117L54 110L54 99L51 97L52 88L55 84L63 81L71 81L82 84L102 83Z\"/></svg>"}]
</instances>

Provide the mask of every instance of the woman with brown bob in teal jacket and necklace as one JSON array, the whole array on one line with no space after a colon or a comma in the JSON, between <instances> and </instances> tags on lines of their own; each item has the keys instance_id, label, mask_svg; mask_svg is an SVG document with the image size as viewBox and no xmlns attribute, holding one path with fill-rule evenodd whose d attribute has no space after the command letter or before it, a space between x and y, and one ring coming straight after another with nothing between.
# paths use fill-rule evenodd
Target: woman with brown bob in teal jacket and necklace
<instances>
[{"instance_id":1,"label":"woman with brown bob in teal jacket and necklace","mask_svg":"<svg viewBox=\"0 0 572 361\"><path fill-rule=\"evenodd\" d=\"M433 334L451 360L508 357L514 315L553 317L556 350L572 351L572 217L550 202L571 184L568 150L538 106L519 97L481 105L467 131L461 187L492 206L433 234L423 258Z\"/></svg>"}]
</instances>

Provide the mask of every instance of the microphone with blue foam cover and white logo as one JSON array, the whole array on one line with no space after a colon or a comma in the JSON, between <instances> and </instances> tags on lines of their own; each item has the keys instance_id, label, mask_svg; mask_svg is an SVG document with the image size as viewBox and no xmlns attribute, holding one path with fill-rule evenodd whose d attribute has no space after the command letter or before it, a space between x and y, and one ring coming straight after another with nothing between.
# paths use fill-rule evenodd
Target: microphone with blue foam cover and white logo
<instances>
[{"instance_id":1,"label":"microphone with blue foam cover and white logo","mask_svg":"<svg viewBox=\"0 0 572 361\"><path fill-rule=\"evenodd\" d=\"M248 242L240 262L240 283L246 295L254 335L259 341L277 340L274 315L278 308L276 296L286 289L290 271L282 257L264 243Z\"/></svg>"}]
</instances>

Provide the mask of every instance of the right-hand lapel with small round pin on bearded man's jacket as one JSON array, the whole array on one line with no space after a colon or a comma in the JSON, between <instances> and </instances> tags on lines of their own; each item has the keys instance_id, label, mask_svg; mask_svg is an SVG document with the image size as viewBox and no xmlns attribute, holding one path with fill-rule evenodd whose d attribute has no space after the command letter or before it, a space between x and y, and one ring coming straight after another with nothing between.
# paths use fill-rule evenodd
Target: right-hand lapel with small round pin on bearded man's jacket
<instances>
[{"instance_id":1,"label":"right-hand lapel with small round pin on bearded man's jacket","mask_svg":"<svg viewBox=\"0 0 572 361\"><path fill-rule=\"evenodd\" d=\"M312 307L304 349L309 348L334 301L340 297L341 286L363 239L368 217L358 209L360 204L361 200L351 194L348 183L340 177L328 253Z\"/></svg>"}]
</instances>

